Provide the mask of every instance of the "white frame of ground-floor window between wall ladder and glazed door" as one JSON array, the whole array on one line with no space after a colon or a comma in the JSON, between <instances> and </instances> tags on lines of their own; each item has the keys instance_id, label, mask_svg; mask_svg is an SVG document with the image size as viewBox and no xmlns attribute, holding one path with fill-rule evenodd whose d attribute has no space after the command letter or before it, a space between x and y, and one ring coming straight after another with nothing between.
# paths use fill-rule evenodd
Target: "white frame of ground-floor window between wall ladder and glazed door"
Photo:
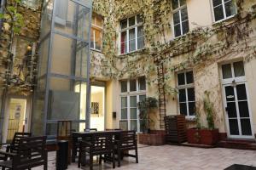
<instances>
[{"instance_id":1,"label":"white frame of ground-floor window between wall ladder and glazed door","mask_svg":"<svg viewBox=\"0 0 256 170\"><path fill-rule=\"evenodd\" d=\"M195 119L195 116L190 116L189 115L189 102L195 102L195 101L189 101L189 99L188 99L188 88L194 88L194 90L195 90L195 79L194 79L194 82L193 83L190 83L190 84L188 84L187 83L187 72L190 72L191 70L188 70L188 71L179 71L179 72L177 72L177 74L176 75L178 75L178 74L184 74L184 78L185 78L185 85L178 85L178 77L176 78L177 79L177 89L178 90L182 90L182 89L184 89L185 90L185 92L186 92L186 102L179 102L179 94L177 94L177 108L178 108L178 112L180 113L180 106L179 106L179 104L180 103L186 103L186 105L187 105L187 115L186 115L186 119L191 119L191 120L194 120ZM194 71L192 71L192 73L193 73L193 77L194 77ZM196 115L196 111L195 111L195 115Z\"/></svg>"}]
</instances>

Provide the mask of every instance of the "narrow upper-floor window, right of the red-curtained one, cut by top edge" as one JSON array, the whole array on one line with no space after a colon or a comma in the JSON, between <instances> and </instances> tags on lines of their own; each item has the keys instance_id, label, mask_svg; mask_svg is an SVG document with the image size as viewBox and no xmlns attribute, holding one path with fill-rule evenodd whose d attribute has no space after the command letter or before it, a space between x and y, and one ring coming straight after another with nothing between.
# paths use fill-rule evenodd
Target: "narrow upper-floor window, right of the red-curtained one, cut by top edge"
<instances>
[{"instance_id":1,"label":"narrow upper-floor window, right of the red-curtained one, cut by top edge","mask_svg":"<svg viewBox=\"0 0 256 170\"><path fill-rule=\"evenodd\" d=\"M186 0L172 0L174 36L189 32L189 16Z\"/></svg>"}]
</instances>

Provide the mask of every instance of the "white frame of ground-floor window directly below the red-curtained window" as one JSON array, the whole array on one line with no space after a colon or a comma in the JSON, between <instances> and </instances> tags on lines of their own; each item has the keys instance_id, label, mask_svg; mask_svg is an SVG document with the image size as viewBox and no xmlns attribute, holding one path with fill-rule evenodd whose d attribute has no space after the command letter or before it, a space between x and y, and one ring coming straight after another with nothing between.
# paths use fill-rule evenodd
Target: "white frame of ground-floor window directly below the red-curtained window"
<instances>
[{"instance_id":1,"label":"white frame of ground-floor window directly below the red-curtained window","mask_svg":"<svg viewBox=\"0 0 256 170\"><path fill-rule=\"evenodd\" d=\"M120 114L119 114L119 121L127 121L128 123L128 130L131 130L131 121L132 120L137 120L137 132L141 132L141 129L140 129L140 117L139 117L139 110L138 110L138 107L137 107L137 119L131 119L131 109L132 108L135 108L135 107L131 107L130 106L130 99L131 97L134 97L136 96L137 97L137 102L139 101L139 97L144 95L146 96L146 89L145 90L140 90L139 89L139 79L140 77L137 77L136 79L132 79L132 80L136 80L136 88L137 88L137 91L133 91L131 92L130 91L130 80L121 80L119 82L120 86L121 86L121 82L122 81L126 81L126 85L127 85L127 92L120 92ZM146 77L145 77L146 78ZM146 85L146 88L147 88L147 83L145 84ZM121 98L123 97L126 97L127 98L127 107L124 107L122 108L122 103L121 103ZM127 119L122 119L121 118L121 110L122 109L127 109Z\"/></svg>"}]
</instances>

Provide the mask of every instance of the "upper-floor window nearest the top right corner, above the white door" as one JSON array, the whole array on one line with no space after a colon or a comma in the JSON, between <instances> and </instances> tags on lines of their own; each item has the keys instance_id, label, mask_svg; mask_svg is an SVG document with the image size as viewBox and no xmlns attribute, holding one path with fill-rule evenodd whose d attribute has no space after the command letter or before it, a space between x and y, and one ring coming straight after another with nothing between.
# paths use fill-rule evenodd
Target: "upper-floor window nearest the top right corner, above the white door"
<instances>
[{"instance_id":1,"label":"upper-floor window nearest the top right corner, above the white door","mask_svg":"<svg viewBox=\"0 0 256 170\"><path fill-rule=\"evenodd\" d=\"M233 0L212 0L215 21L228 19L236 14Z\"/></svg>"}]
</instances>

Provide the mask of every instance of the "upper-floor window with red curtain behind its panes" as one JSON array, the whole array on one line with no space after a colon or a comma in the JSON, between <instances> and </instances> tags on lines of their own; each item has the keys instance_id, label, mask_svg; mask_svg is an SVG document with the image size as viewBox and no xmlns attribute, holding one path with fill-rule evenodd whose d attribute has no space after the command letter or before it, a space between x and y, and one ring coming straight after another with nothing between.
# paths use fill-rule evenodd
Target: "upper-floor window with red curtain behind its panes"
<instances>
[{"instance_id":1,"label":"upper-floor window with red curtain behind its panes","mask_svg":"<svg viewBox=\"0 0 256 170\"><path fill-rule=\"evenodd\" d=\"M121 20L121 54L144 48L143 19L139 14Z\"/></svg>"}]
</instances>

